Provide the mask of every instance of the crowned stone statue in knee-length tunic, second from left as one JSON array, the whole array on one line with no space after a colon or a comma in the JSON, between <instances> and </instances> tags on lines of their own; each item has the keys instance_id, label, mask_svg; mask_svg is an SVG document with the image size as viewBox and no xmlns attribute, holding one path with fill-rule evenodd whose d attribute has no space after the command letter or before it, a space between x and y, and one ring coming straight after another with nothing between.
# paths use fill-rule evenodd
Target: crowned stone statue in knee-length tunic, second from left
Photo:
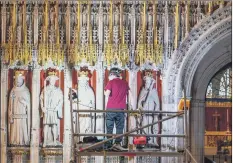
<instances>
[{"instance_id":1,"label":"crowned stone statue in knee-length tunic, second from left","mask_svg":"<svg viewBox=\"0 0 233 163\"><path fill-rule=\"evenodd\" d=\"M61 145L58 139L58 124L62 118L63 93L55 86L59 78L55 72L50 72L45 79L44 89L40 95L40 105L43 117L43 147ZM46 86L46 82L49 85Z\"/></svg>"}]
</instances>

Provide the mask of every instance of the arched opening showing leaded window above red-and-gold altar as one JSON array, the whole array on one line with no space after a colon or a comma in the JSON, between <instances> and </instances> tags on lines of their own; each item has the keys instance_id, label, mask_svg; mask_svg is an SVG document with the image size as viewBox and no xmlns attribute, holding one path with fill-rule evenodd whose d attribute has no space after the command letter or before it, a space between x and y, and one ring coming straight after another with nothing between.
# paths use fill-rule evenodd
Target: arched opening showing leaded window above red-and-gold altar
<instances>
[{"instance_id":1,"label":"arched opening showing leaded window above red-and-gold altar","mask_svg":"<svg viewBox=\"0 0 233 163\"><path fill-rule=\"evenodd\" d=\"M205 102L205 156L230 161L232 137L232 67L226 65L210 80Z\"/></svg>"}]
</instances>

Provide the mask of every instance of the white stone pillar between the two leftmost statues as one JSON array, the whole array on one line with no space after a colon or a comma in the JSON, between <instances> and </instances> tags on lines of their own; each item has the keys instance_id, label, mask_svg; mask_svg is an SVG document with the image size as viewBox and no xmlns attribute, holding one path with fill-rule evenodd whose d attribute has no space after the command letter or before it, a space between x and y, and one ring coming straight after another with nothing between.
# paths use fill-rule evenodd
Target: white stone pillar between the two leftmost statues
<instances>
[{"instance_id":1,"label":"white stone pillar between the two leftmost statues","mask_svg":"<svg viewBox=\"0 0 233 163\"><path fill-rule=\"evenodd\" d=\"M39 163L39 136L40 136L40 69L33 70L32 76L32 126L31 126L31 146L30 160L33 163Z\"/></svg>"}]
</instances>

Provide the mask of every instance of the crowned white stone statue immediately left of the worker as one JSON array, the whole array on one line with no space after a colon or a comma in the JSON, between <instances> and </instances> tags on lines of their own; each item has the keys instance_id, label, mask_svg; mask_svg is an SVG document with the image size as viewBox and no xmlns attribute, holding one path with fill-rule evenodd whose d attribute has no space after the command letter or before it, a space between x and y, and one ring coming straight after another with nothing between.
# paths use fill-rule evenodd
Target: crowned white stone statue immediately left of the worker
<instances>
[{"instance_id":1,"label":"crowned white stone statue immediately left of the worker","mask_svg":"<svg viewBox=\"0 0 233 163\"><path fill-rule=\"evenodd\" d=\"M78 109L79 110L94 110L95 109L95 94L89 85L89 77L87 71L81 71L78 77ZM93 133L94 131L94 114L80 112L78 114L79 132ZM83 137L80 137L82 141Z\"/></svg>"}]
</instances>

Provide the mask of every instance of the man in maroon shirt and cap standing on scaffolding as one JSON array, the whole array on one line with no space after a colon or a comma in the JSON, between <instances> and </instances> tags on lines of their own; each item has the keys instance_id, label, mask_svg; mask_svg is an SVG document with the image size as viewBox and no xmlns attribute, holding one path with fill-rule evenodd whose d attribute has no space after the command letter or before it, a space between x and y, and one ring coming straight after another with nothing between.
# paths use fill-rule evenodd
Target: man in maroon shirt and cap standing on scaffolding
<instances>
[{"instance_id":1,"label":"man in maroon shirt and cap standing on scaffolding","mask_svg":"<svg viewBox=\"0 0 233 163\"><path fill-rule=\"evenodd\" d=\"M109 82L105 87L105 96L108 97L107 110L126 109L126 97L128 95L128 83L120 78L121 71L118 68L112 68L109 74ZM107 134L113 133L114 123L116 124L116 134L122 134L124 129L124 112L107 112L106 127ZM109 138L109 137L108 137ZM121 147L122 138L117 138L112 149L127 150ZM110 142L111 144L111 142Z\"/></svg>"}]
</instances>

